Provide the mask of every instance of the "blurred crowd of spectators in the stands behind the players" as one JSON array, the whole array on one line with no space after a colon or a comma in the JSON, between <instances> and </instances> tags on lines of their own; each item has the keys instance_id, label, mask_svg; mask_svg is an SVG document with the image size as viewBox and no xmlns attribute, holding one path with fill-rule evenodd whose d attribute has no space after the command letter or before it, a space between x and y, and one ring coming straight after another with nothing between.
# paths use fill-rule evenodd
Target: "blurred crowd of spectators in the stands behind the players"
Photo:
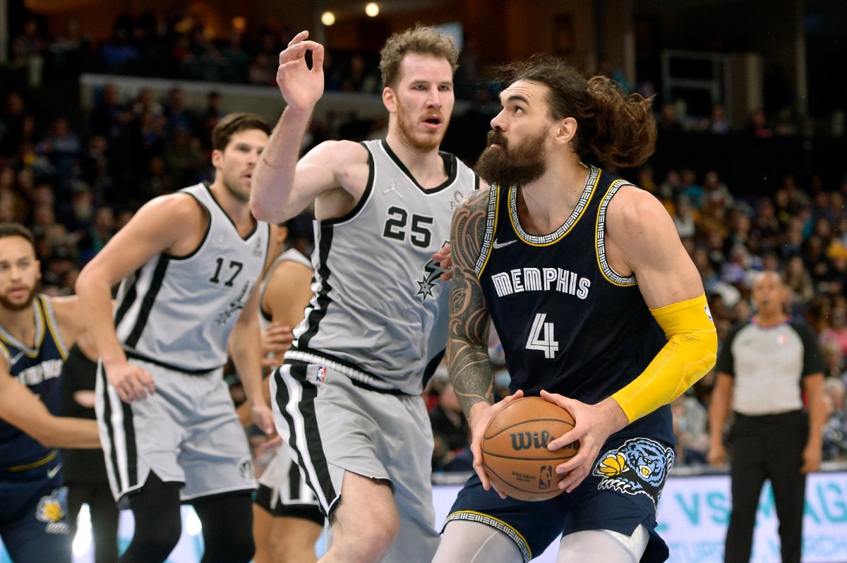
<instances>
[{"instance_id":1,"label":"blurred crowd of spectators in the stands behind the players","mask_svg":"<svg viewBox=\"0 0 847 563\"><path fill-rule=\"evenodd\" d=\"M195 17L182 15L160 25L148 14L127 16L119 19L108 41L95 46L80 36L73 22L64 35L48 40L33 19L14 36L10 65L41 58L38 72L32 70L36 75L47 69L71 75L91 70L274 84L277 53L291 30L268 22L248 33L243 24L236 23L227 39L218 40L210 38L202 19ZM379 91L372 61L355 55L347 63L343 70L330 67L329 89ZM28 76L24 87L0 85L0 221L18 221L33 230L42 261L42 290L68 294L81 266L142 203L212 177L209 132L224 112L212 87L205 107L187 108L178 87L166 99L141 90L126 100L119 98L115 86L107 85L97 92L89 114L44 113L32 102L43 80ZM492 97L484 89L477 93L480 105L461 119L465 124L475 119L487 128ZM728 133L720 105L711 118L687 124L677 119L674 108L673 102L656 108L660 138L662 132L672 131ZM475 130L455 123L453 128L464 135ZM773 130L761 113L751 119L746 133L768 140L791 131ZM312 141L320 140L315 135ZM467 146L481 150L484 129ZM449 143L446 150L451 150ZM767 192L750 193L722 179L721 162L712 167L696 170L679 161L661 174L650 164L626 174L660 199L672 216L700 270L719 337L750 316L754 273L772 269L783 274L791 289L786 306L817 331L826 359L829 417L824 459L847 460L847 174L834 184L821 176L786 174L768 179ZM495 341L492 350L497 385L503 389L508 377ZM712 378L706 376L673 404L678 464L705 463ZM467 444L460 439L467 425L450 393L443 373L428 389L433 420L443 429L436 432L440 450L434 466L468 469Z\"/></svg>"}]
</instances>

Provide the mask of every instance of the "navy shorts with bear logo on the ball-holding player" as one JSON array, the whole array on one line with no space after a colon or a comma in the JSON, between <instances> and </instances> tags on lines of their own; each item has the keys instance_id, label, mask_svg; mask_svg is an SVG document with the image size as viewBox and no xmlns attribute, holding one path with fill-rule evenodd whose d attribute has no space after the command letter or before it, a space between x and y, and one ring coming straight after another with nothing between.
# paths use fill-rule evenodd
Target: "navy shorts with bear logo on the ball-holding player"
<instances>
[{"instance_id":1,"label":"navy shorts with bear logo on the ball-holding player","mask_svg":"<svg viewBox=\"0 0 847 563\"><path fill-rule=\"evenodd\" d=\"M474 473L445 526L465 520L495 527L512 538L523 560L529 561L562 534L612 530L632 535L644 524L650 541L642 562L658 563L667 560L668 549L655 531L656 506L673 459L668 444L618 433L606 441L590 474L573 493L534 502L503 500L493 488L486 491Z\"/></svg>"}]
</instances>

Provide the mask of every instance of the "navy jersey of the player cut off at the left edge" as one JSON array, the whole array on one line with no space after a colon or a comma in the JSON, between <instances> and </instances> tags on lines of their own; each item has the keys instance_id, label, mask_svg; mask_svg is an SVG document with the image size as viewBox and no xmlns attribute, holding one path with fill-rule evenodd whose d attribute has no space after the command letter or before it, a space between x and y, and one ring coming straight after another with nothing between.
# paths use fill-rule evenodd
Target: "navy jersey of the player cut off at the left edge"
<instances>
[{"instance_id":1,"label":"navy jersey of the player cut off at the left edge","mask_svg":"<svg viewBox=\"0 0 847 563\"><path fill-rule=\"evenodd\" d=\"M8 363L8 373L38 396L48 411L58 416L62 381L59 376L68 350L47 295L35 296L32 312L36 318L35 345L25 345L0 326L0 354ZM0 420L0 470L25 469L52 456L53 451Z\"/></svg>"}]
</instances>

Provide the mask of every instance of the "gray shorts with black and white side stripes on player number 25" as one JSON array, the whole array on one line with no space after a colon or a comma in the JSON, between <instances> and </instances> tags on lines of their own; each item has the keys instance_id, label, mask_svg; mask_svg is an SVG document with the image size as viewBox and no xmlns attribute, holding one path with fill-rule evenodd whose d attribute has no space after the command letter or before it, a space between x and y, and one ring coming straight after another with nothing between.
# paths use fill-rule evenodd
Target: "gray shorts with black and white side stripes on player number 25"
<instances>
[{"instance_id":1,"label":"gray shorts with black and white side stripes on player number 25","mask_svg":"<svg viewBox=\"0 0 847 563\"><path fill-rule=\"evenodd\" d=\"M329 521L345 472L385 482L401 517L400 534L385 560L429 563L439 534L424 400L365 389L335 366L299 361L274 371L270 386L277 431Z\"/></svg>"}]
</instances>

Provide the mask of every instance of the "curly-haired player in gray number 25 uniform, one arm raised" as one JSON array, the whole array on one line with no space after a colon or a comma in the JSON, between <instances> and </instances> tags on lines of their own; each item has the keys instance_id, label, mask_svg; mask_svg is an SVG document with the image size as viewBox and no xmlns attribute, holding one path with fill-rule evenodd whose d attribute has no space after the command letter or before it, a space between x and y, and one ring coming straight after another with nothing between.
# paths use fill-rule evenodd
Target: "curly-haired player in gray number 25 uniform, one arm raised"
<instances>
[{"instance_id":1,"label":"curly-haired player in gray number 25 uniform, one arm raised","mask_svg":"<svg viewBox=\"0 0 847 563\"><path fill-rule=\"evenodd\" d=\"M380 53L387 138L324 142L298 163L323 93L324 47L303 31L280 53L287 105L251 199L257 218L274 222L315 203L315 296L271 389L280 435L332 525L323 561L429 561L437 547L420 397L446 345L433 254L479 184L439 152L457 54L433 28L391 36Z\"/></svg>"}]
</instances>

